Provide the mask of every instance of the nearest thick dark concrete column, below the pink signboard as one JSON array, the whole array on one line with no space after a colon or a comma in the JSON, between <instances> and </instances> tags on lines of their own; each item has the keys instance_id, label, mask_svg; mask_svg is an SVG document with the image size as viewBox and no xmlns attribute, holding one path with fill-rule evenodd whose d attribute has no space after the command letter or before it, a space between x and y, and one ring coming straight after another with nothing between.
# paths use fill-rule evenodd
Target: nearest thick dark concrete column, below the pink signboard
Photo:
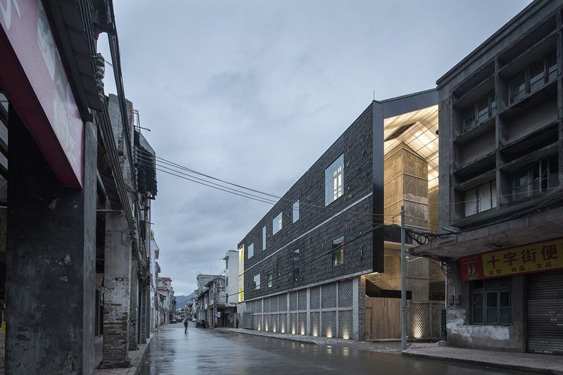
<instances>
[{"instance_id":1,"label":"nearest thick dark concrete column, below the pink signboard","mask_svg":"<svg viewBox=\"0 0 563 375\"><path fill-rule=\"evenodd\" d=\"M83 189L71 189L8 116L6 374L92 374L96 127L84 126Z\"/></svg>"}]
</instances>

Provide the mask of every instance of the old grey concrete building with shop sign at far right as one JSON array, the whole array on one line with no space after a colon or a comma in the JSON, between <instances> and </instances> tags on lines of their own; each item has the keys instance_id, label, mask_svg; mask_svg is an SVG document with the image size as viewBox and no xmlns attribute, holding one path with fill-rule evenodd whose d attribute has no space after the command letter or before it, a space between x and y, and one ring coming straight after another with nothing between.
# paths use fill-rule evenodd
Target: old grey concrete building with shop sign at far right
<instances>
[{"instance_id":1,"label":"old grey concrete building with shop sign at far right","mask_svg":"<svg viewBox=\"0 0 563 375\"><path fill-rule=\"evenodd\" d=\"M563 354L562 1L533 1L441 77L448 345Z\"/></svg>"}]
</instances>

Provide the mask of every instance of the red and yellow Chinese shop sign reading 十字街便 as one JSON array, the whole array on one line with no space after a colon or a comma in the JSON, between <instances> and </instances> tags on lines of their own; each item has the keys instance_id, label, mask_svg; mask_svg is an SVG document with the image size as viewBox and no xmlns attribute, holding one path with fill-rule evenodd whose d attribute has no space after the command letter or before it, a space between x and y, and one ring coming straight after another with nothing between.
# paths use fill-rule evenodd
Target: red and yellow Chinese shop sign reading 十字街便
<instances>
[{"instance_id":1,"label":"red and yellow Chinese shop sign reading \u5341\u5b57\u8857\u4fbf","mask_svg":"<svg viewBox=\"0 0 563 375\"><path fill-rule=\"evenodd\" d=\"M460 268L463 281L563 269L563 239L461 257Z\"/></svg>"}]
</instances>

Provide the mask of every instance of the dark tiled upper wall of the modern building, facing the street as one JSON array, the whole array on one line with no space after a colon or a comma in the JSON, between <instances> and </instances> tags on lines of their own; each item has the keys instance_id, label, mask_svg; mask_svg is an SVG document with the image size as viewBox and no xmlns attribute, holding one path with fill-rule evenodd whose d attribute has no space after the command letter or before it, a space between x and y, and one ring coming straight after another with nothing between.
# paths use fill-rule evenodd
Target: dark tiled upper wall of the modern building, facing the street
<instances>
[{"instance_id":1,"label":"dark tiled upper wall of the modern building, facing the street","mask_svg":"<svg viewBox=\"0 0 563 375\"><path fill-rule=\"evenodd\" d=\"M350 241L372 227L372 197L369 196L321 227L312 230L337 212L372 193L372 105L353 122L334 144L303 174L282 199L242 239L245 246L244 293L251 300L261 295L372 269L372 234L366 234L344 248L343 265L332 266L332 241L344 236ZM344 154L344 194L324 206L324 170ZM292 223L292 204L300 201L299 220ZM283 228L272 235L272 220L283 212ZM262 249L262 227L266 227L266 248ZM301 238L300 238L301 237ZM254 255L246 249L254 243ZM293 250L301 255L300 277L293 281ZM277 264L281 276L277 277ZM268 287L267 272L274 278ZM253 278L260 274L260 289Z\"/></svg>"}]
</instances>

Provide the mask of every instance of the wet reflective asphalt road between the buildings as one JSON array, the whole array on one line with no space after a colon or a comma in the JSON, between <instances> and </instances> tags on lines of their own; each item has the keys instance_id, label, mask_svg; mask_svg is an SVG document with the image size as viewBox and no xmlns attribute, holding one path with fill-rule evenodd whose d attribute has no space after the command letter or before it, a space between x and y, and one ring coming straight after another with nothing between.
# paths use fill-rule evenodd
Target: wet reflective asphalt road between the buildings
<instances>
[{"instance_id":1,"label":"wet reflective asphalt road between the buildings","mask_svg":"<svg viewBox=\"0 0 563 375\"><path fill-rule=\"evenodd\" d=\"M166 374L513 374L469 364L315 345L183 324L161 326L141 365L142 375Z\"/></svg>"}]
</instances>

